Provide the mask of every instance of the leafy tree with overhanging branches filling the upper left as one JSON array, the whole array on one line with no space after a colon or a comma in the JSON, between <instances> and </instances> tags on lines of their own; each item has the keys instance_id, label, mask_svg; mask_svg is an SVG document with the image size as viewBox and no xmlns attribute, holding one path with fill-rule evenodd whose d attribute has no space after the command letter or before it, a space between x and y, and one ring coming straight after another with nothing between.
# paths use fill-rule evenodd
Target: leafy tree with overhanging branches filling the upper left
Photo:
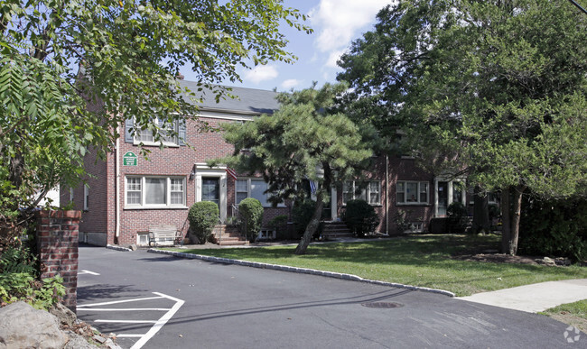
<instances>
[{"instance_id":1,"label":"leafy tree with overhanging branches filling the upper left","mask_svg":"<svg viewBox=\"0 0 587 349\"><path fill-rule=\"evenodd\" d=\"M0 6L0 215L35 207L60 180L82 178L86 152L104 155L132 115L136 133L165 135L196 115L195 91L176 80L190 67L202 90L240 80L238 66L292 62L279 24L311 32L282 0L94 2L6 0ZM210 97L210 96L208 96ZM197 100L195 100L197 104Z\"/></svg>"}]
</instances>

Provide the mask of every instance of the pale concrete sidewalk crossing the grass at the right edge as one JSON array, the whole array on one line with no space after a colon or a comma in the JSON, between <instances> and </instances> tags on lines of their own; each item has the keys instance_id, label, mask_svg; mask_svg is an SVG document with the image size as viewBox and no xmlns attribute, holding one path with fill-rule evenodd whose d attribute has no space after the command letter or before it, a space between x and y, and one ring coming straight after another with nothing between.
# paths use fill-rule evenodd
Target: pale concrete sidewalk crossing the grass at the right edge
<instances>
[{"instance_id":1,"label":"pale concrete sidewalk crossing the grass at the right edge","mask_svg":"<svg viewBox=\"0 0 587 349\"><path fill-rule=\"evenodd\" d=\"M530 313L587 299L587 279L535 283L456 299Z\"/></svg>"}]
</instances>

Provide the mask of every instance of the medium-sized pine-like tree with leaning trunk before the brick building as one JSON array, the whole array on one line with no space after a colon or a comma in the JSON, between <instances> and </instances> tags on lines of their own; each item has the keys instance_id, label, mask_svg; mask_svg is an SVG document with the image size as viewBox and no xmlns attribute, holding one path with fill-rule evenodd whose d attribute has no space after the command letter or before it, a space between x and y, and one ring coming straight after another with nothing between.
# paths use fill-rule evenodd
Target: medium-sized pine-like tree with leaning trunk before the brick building
<instances>
[{"instance_id":1,"label":"medium-sized pine-like tree with leaning trunk before the brick building","mask_svg":"<svg viewBox=\"0 0 587 349\"><path fill-rule=\"evenodd\" d=\"M241 173L262 173L275 205L302 200L303 180L317 183L315 209L296 254L306 252L320 224L331 185L349 179L365 168L372 155L375 135L359 129L349 118L333 111L336 97L346 85L325 84L279 94L280 108L251 123L224 124L224 137L234 144L232 156L217 160ZM370 140L370 141L369 141Z\"/></svg>"}]
</instances>

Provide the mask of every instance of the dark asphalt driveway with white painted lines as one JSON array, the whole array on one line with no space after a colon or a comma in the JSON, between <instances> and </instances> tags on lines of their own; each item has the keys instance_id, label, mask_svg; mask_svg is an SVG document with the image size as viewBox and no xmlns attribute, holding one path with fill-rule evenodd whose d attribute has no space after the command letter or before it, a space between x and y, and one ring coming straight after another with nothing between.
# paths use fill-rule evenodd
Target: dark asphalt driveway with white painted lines
<instances>
[{"instance_id":1,"label":"dark asphalt driveway with white painted lines","mask_svg":"<svg viewBox=\"0 0 587 349\"><path fill-rule=\"evenodd\" d=\"M86 246L79 271L79 318L123 347L587 347L549 317L351 280Z\"/></svg>"}]
</instances>

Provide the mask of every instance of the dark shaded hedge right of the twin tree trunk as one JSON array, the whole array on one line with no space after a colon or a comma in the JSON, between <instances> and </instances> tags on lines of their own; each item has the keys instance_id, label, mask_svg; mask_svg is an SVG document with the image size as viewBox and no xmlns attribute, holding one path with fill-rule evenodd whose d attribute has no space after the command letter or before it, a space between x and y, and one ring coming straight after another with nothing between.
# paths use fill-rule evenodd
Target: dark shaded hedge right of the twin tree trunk
<instances>
[{"instance_id":1,"label":"dark shaded hedge right of the twin tree trunk","mask_svg":"<svg viewBox=\"0 0 587 349\"><path fill-rule=\"evenodd\" d=\"M540 201L530 197L523 207L521 253L587 260L587 199Z\"/></svg>"}]
</instances>

